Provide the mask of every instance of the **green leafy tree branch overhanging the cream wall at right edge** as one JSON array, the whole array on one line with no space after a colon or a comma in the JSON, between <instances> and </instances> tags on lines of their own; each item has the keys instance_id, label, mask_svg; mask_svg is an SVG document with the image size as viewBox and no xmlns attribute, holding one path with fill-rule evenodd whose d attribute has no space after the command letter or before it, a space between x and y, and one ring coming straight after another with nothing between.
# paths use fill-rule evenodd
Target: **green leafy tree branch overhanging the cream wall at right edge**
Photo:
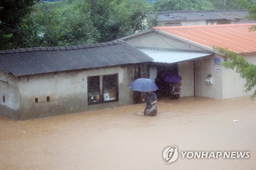
<instances>
[{"instance_id":1,"label":"green leafy tree branch overhanging the cream wall at right edge","mask_svg":"<svg viewBox=\"0 0 256 170\"><path fill-rule=\"evenodd\" d=\"M243 56L236 52L228 51L227 48L215 46L214 49L229 59L229 61L222 63L225 68L233 69L240 77L246 80L246 92L256 86L256 65L247 62ZM256 90L254 90L254 93L251 95L251 100L253 100L255 96Z\"/></svg>"}]
</instances>

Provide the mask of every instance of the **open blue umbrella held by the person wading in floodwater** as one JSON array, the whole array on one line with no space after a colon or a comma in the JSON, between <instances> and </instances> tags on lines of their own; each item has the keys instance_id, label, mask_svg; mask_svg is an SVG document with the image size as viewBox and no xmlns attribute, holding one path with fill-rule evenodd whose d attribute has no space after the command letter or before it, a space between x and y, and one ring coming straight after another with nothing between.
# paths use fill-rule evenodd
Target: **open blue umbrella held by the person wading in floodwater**
<instances>
[{"instance_id":1,"label":"open blue umbrella held by the person wading in floodwater","mask_svg":"<svg viewBox=\"0 0 256 170\"><path fill-rule=\"evenodd\" d=\"M132 83L130 83L127 87L136 91L156 91L158 90L157 85L151 79L136 79Z\"/></svg>"}]
</instances>

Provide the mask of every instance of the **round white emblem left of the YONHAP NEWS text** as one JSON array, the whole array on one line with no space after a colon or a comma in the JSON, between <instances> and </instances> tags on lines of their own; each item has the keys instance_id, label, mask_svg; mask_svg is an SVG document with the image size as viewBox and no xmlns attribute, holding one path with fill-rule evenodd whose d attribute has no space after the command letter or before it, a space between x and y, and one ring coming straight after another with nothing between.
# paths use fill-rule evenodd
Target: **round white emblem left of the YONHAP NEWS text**
<instances>
[{"instance_id":1,"label":"round white emblem left of the YONHAP NEWS text","mask_svg":"<svg viewBox=\"0 0 256 170\"><path fill-rule=\"evenodd\" d=\"M178 159L179 153L176 146L167 147L163 150L163 159L166 164L172 163Z\"/></svg>"}]
</instances>

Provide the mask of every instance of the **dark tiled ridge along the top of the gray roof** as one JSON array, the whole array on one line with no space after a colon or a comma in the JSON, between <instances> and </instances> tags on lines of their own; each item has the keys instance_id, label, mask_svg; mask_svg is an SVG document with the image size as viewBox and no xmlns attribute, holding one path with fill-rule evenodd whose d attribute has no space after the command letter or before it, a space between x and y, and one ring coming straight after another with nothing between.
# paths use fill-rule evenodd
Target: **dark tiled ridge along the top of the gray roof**
<instances>
[{"instance_id":1,"label":"dark tiled ridge along the top of the gray roof","mask_svg":"<svg viewBox=\"0 0 256 170\"><path fill-rule=\"evenodd\" d=\"M107 46L107 45L115 45L125 43L123 40L114 40L110 42L101 42L101 43L94 43L94 44L84 44L84 45L73 45L73 46L48 46L48 47L31 47L31 48L18 48L13 50L2 50L0 54L7 54L7 53L22 53L22 52L32 52L32 51L54 51L54 50L75 50L81 48L93 48L99 46Z\"/></svg>"}]
</instances>

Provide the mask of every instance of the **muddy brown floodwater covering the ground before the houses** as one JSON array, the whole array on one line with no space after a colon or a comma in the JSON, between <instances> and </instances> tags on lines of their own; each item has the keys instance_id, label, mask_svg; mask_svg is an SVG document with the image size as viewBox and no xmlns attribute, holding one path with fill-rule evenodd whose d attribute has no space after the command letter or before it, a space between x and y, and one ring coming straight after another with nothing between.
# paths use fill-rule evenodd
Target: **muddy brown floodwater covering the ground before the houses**
<instances>
[{"instance_id":1,"label":"muddy brown floodwater covering the ground before the houses","mask_svg":"<svg viewBox=\"0 0 256 170\"><path fill-rule=\"evenodd\" d=\"M256 100L161 99L144 104L18 121L0 116L0 169L256 169ZM234 121L239 120L239 122ZM162 152L248 151L249 159L188 159Z\"/></svg>"}]
</instances>

